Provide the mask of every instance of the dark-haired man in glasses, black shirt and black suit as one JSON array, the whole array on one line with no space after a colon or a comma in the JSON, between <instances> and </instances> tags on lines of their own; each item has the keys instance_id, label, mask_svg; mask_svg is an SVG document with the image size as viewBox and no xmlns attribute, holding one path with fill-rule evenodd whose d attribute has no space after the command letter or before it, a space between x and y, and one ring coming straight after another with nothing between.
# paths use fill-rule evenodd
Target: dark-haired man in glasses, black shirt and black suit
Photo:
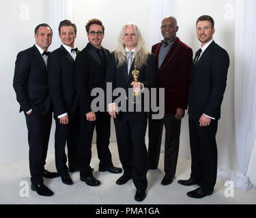
<instances>
[{"instance_id":1,"label":"dark-haired man in glasses, black shirt and black suit","mask_svg":"<svg viewBox=\"0 0 256 218\"><path fill-rule=\"evenodd\" d=\"M80 142L79 160L81 161L80 179L87 185L97 186L100 181L94 178L89 163L91 161L91 142L96 127L96 146L100 159L99 171L111 173L122 172L121 168L113 166L109 151L110 117L107 112L94 112L91 102L91 90L98 87L104 89L106 61L109 50L102 47L104 26L98 19L91 19L85 26L89 43L79 52L75 61L75 82L79 96L80 110Z\"/></svg>"}]
</instances>

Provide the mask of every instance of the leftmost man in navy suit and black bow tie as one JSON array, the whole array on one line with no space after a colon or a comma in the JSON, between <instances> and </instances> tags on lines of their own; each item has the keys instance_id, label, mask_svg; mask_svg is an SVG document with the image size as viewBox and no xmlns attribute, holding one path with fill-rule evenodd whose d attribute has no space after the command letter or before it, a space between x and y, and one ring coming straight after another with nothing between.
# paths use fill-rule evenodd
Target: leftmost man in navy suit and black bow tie
<instances>
[{"instance_id":1,"label":"leftmost man in navy suit and black bow tie","mask_svg":"<svg viewBox=\"0 0 256 218\"><path fill-rule=\"evenodd\" d=\"M56 172L44 169L52 124L46 66L53 31L48 25L40 24L35 27L34 37L35 45L17 55L13 87L27 123L31 189L41 196L53 196L42 178L58 176Z\"/></svg>"}]
</instances>

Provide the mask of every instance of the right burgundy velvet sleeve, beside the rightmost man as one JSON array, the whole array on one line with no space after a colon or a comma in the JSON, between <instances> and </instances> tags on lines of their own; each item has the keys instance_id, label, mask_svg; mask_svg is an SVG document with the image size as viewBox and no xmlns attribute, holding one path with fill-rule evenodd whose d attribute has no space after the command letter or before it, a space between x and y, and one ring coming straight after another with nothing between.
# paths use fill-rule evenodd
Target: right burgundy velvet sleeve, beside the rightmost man
<instances>
[{"instance_id":1,"label":"right burgundy velvet sleeve, beside the rightmost man","mask_svg":"<svg viewBox=\"0 0 256 218\"><path fill-rule=\"evenodd\" d=\"M191 48L184 50L184 57L182 58L181 70L180 70L180 92L177 97L176 108L182 108L186 110L188 107L188 89L190 82L190 73L193 65L193 51Z\"/></svg>"}]
</instances>

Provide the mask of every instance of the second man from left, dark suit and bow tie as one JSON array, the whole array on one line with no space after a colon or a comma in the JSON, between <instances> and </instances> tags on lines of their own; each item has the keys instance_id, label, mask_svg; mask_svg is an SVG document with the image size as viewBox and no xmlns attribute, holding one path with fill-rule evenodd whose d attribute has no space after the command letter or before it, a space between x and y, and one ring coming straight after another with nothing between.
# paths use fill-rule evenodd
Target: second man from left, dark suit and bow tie
<instances>
[{"instance_id":1,"label":"second man from left, dark suit and bow tie","mask_svg":"<svg viewBox=\"0 0 256 218\"><path fill-rule=\"evenodd\" d=\"M68 166L70 172L79 170L79 99L74 87L74 60L77 48L76 25L70 20L59 24L59 37L62 45L48 57L48 82L53 102L55 130L55 162L61 181L72 185L66 166L65 146L68 147Z\"/></svg>"}]
</instances>

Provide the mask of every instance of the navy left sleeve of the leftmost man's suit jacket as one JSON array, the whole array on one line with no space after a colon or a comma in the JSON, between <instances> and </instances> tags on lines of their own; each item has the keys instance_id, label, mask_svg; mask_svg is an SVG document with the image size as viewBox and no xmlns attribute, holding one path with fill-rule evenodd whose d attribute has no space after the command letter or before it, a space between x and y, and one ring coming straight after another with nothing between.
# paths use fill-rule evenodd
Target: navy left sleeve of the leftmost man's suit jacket
<instances>
[{"instance_id":1,"label":"navy left sleeve of the leftmost man's suit jacket","mask_svg":"<svg viewBox=\"0 0 256 218\"><path fill-rule=\"evenodd\" d=\"M19 52L15 62L13 87L21 109L27 112L33 108L27 94L27 81L29 79L30 61L26 52Z\"/></svg>"}]
</instances>

